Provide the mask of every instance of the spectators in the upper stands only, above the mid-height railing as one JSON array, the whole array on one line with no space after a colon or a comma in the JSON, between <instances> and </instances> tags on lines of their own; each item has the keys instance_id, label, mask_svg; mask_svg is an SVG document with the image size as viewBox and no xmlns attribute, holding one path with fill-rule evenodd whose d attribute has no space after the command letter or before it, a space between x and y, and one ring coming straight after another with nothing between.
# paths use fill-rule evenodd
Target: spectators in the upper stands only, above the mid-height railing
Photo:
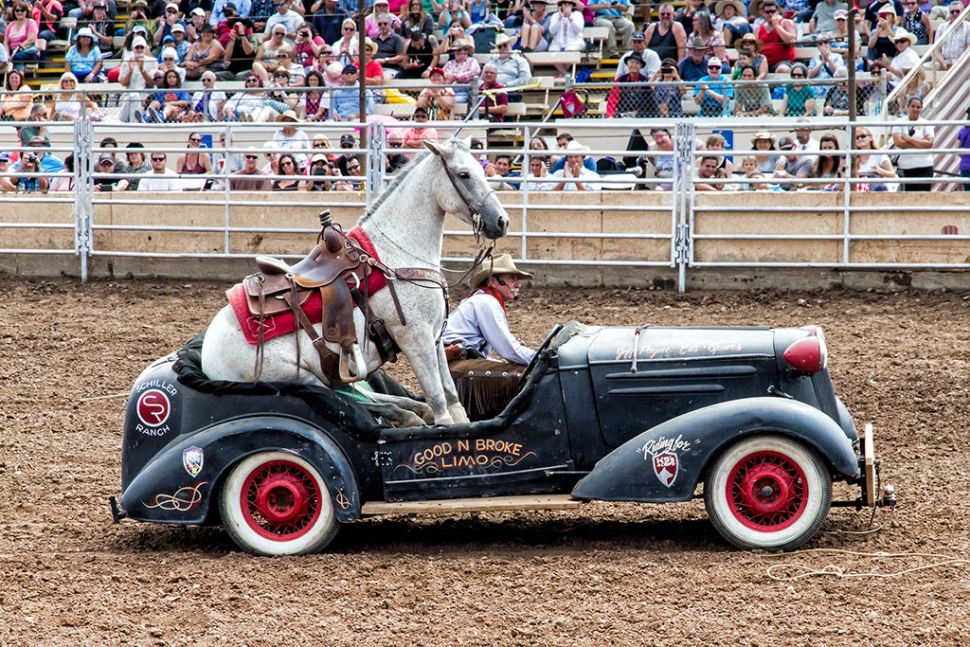
<instances>
[{"instance_id":1,"label":"spectators in the upper stands only, above the mid-height railing","mask_svg":"<svg viewBox=\"0 0 970 647\"><path fill-rule=\"evenodd\" d=\"M630 19L630 0L366 4L365 33L358 34L354 0L131 0L126 16L114 0L16 0L0 21L0 63L21 72L8 78L7 88L23 91L24 66L43 57L51 41L72 35L64 66L78 94L56 111L58 119L104 118L103 111L71 106L88 103L85 84L111 82L124 92L118 118L126 122L273 121L287 110L301 121L348 121L361 117L354 105L359 84L374 88L366 92L371 112L395 100L393 91L381 89L391 79L424 79L429 88L456 86L444 100L436 96L442 88L421 93L417 105L433 119L451 116L476 87L490 91L480 116L502 121L506 110L498 97L521 100L516 90L532 76L523 53L585 51L583 28L598 26L607 30L607 56L619 59L607 117L681 116L683 97L693 99L702 117L839 116L849 109L850 68L871 74L857 92L857 107L865 111L919 67L914 46L946 33L945 46L934 53L943 70L970 47L960 0L869 2L857 16L864 56L848 51L842 0L687 0L680 9L661 4L657 19L642 29ZM63 16L77 18L78 28L66 31ZM435 33L443 34L440 40ZM116 37L123 41L117 50ZM799 61L796 45L811 45L817 55ZM483 65L476 52L490 52L491 60ZM106 70L108 60L120 64ZM556 65L561 74L568 71ZM205 85L193 94L185 84L195 81ZM237 85L220 88L225 82L242 83L251 96L237 96ZM636 86L644 83L651 85ZM903 103L928 90L925 75L916 74ZM28 116L3 109L3 118Z\"/></svg>"}]
</instances>

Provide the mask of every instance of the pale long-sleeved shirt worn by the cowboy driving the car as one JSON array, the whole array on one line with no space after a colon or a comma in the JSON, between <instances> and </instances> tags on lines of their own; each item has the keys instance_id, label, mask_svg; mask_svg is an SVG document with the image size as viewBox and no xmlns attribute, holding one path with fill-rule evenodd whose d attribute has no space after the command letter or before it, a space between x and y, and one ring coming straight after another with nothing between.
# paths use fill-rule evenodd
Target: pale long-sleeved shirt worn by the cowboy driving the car
<instances>
[{"instance_id":1,"label":"pale long-sleeved shirt worn by the cowboy driving the car","mask_svg":"<svg viewBox=\"0 0 970 647\"><path fill-rule=\"evenodd\" d=\"M459 304L445 328L441 340L447 346L458 342L478 348L487 357L495 354L513 364L528 364L536 354L516 339L509 330L509 320L498 299L481 290Z\"/></svg>"}]
</instances>

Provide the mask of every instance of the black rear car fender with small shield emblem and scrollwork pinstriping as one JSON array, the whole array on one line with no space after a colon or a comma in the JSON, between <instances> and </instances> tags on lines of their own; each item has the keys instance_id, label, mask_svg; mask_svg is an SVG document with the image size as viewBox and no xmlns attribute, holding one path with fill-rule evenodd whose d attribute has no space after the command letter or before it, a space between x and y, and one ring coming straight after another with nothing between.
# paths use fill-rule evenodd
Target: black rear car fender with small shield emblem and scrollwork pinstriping
<instances>
[{"instance_id":1,"label":"black rear car fender with small shield emblem and scrollwork pinstriping","mask_svg":"<svg viewBox=\"0 0 970 647\"><path fill-rule=\"evenodd\" d=\"M267 450L309 461L326 481L337 519L360 518L357 478L343 450L319 427L288 416L236 418L176 438L132 479L121 507L129 518L142 521L203 523L227 471Z\"/></svg>"}]
</instances>

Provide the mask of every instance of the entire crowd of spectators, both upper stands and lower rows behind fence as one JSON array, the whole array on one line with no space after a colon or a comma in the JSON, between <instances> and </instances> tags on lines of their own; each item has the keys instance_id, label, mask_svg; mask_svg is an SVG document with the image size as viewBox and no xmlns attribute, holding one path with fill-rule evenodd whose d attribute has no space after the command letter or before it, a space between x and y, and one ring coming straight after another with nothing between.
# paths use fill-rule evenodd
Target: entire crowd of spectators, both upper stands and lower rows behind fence
<instances>
[{"instance_id":1,"label":"entire crowd of spectators, both upper stands and lower rows behind fence","mask_svg":"<svg viewBox=\"0 0 970 647\"><path fill-rule=\"evenodd\" d=\"M607 56L618 59L615 84L604 104L608 118L681 117L686 100L693 101L699 117L838 117L850 112L850 69L867 73L856 88L860 111L871 110L869 104L880 102L906 79L894 107L900 125L893 128L887 143L895 149L914 150L895 161L884 153L857 157L853 161L857 168L848 171L853 177L873 180L868 184L873 191L897 186L925 190L928 185L923 183L880 181L932 174L931 156L917 150L932 148L934 132L920 123L930 86L913 48L947 34L946 46L933 59L946 70L970 47L970 23L959 20L964 9L959 0L938 6L922 0L870 2L856 26L865 55L848 51L853 26L848 25L849 7L841 0L822 0L814 6L805 0L687 0L679 9L661 4L657 19L642 29L630 20L629 0L368 0L367 4L364 33L359 34L354 0L132 0L124 16L114 0L16 0L5 7L0 21L0 63L10 67L0 119L32 123L107 119L105 107L88 96L85 85L117 84L122 93L117 111L121 121L278 122L279 131L271 142L275 152L247 151L216 164L212 153L200 150L179 156L177 168L170 169L166 155L152 153L146 159L143 152L133 150L126 158L134 156L137 163L130 159L121 163L112 156L112 173L158 175L147 184L155 190L185 188L185 175L211 172L252 176L233 177L232 188L263 187L263 179L256 176L269 173L295 176L271 180L267 185L271 190L354 190L360 188L360 181L312 176L352 176L351 170L359 173L359 158L348 164L345 156L279 153L309 148L296 123L357 121L363 117L361 84L364 108L370 114L376 104L394 99L386 88L390 79L424 80L413 99L414 126L395 132L387 142L401 149L388 156L387 169L394 171L413 154L409 149L436 138L434 128L425 122L450 119L456 104L468 101L469 87L480 96L477 116L501 123L509 105L522 100L519 90L532 77L522 54L585 50L583 28L599 26L607 30ZM50 42L68 35L60 26L63 16L77 18L78 27L71 32L64 55L61 92L45 105L36 101L23 70L46 55ZM435 33L443 36L436 38ZM488 36L487 41L478 34ZM117 50L116 38L123 41ZM475 54L483 51L483 42L490 55L488 62L480 63ZM812 45L816 55L797 60L795 47L800 44ZM120 64L106 70L106 61L112 59ZM567 70L562 66L559 71ZM201 87L189 88L187 82ZM238 91L238 85L220 87L227 82L241 84L246 91ZM43 130L42 125L21 128L21 146L46 146L36 143L48 141ZM800 132L777 142L768 133L756 135L751 146L756 154L737 160L736 169L723 154L699 158L698 177L716 190L821 189L827 185L796 180L844 177L846 169L838 161L838 152L818 156L816 149L810 157L784 152L799 149ZM866 144L859 148L875 146L871 137L866 142L862 136L865 129L856 132L858 141ZM659 180L671 178L672 157L662 154L672 150L670 133L658 129L650 133L650 141L642 139L643 150L654 154L637 160L633 165L637 172L652 167ZM826 146L835 145L831 150L838 149L835 137L822 140ZM187 142L189 147L195 144L192 138ZM705 150L717 153L719 145L723 150L723 142L707 142ZM519 182L495 182L503 189L601 188L592 157L583 154L588 149L575 141L565 141L559 148L571 154L532 157ZM262 166L260 155L266 160ZM5 169L30 170L26 155L7 157ZM36 157L35 175L46 173L55 161L68 168L75 163L61 162L51 154ZM716 161L713 168L710 158ZM536 164L540 159L541 167ZM99 170L102 162L107 168L108 160L99 159ZM506 178L515 172L516 163L493 159L483 166L490 177ZM741 174L753 181L713 182ZM28 179L35 181L5 182L3 187L64 189L61 176ZM666 184L660 181L657 187L663 189ZM114 183L98 180L98 186L99 190L137 190L141 183L129 177Z\"/></svg>"}]
</instances>

